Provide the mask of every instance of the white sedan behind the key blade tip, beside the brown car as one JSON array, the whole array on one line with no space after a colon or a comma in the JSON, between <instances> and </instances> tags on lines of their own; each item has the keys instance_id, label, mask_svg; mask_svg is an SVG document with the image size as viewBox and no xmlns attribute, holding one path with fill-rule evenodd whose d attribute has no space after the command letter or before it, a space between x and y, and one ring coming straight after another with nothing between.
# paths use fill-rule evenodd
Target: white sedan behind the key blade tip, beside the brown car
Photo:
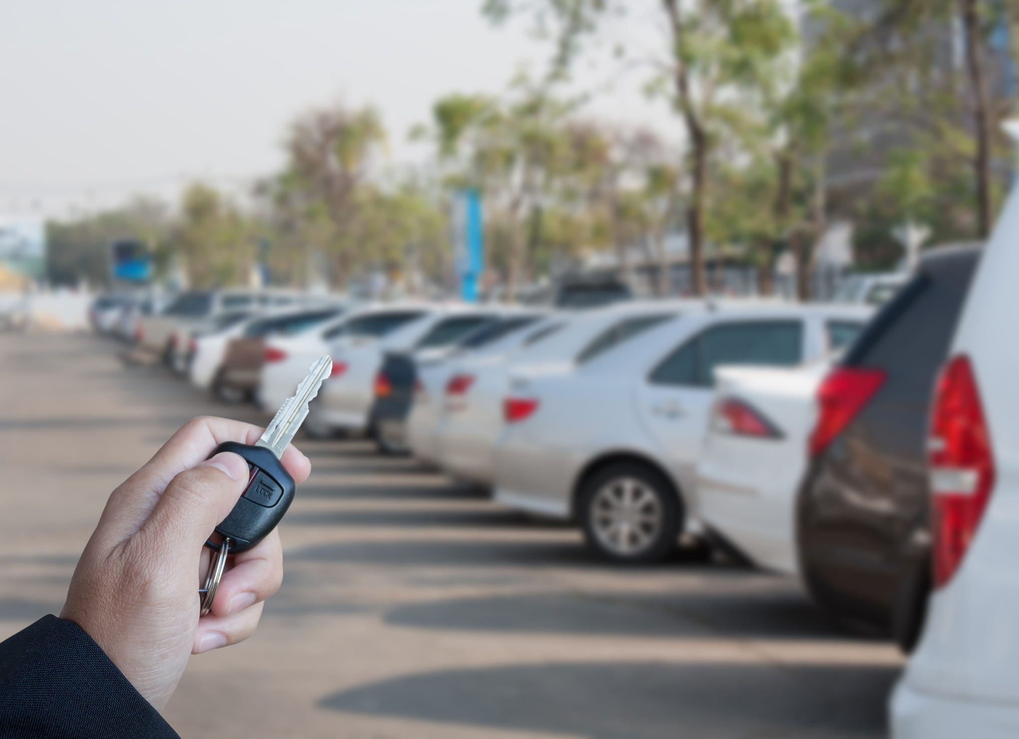
<instances>
[{"instance_id":1,"label":"white sedan behind the key blade tip, beside the brown car","mask_svg":"<svg viewBox=\"0 0 1019 739\"><path fill-rule=\"evenodd\" d=\"M308 374L312 362L332 351L333 345L346 343L361 346L378 341L431 310L427 303L367 305L300 334L269 337L256 393L259 406L267 413L275 413L283 401L293 394L293 388ZM345 371L346 366L334 358L333 376L338 377ZM316 400L312 408L319 402L320 399ZM312 437L329 436L335 431L329 423L317 423L315 413L305 419L302 429Z\"/></svg>"}]
</instances>

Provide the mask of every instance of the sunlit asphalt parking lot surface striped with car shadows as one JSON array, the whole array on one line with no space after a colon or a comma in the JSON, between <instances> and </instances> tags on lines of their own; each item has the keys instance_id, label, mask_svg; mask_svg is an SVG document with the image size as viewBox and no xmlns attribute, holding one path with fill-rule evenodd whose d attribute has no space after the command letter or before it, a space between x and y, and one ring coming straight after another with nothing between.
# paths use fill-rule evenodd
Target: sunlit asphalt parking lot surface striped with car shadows
<instances>
[{"instance_id":1,"label":"sunlit asphalt parking lot surface striped with car shadows","mask_svg":"<svg viewBox=\"0 0 1019 739\"><path fill-rule=\"evenodd\" d=\"M0 335L0 638L59 613L107 496L187 418L254 422L89 335ZM795 581L678 555L593 560L570 528L364 441L313 471L249 641L193 658L182 737L880 737L901 670Z\"/></svg>"}]
</instances>

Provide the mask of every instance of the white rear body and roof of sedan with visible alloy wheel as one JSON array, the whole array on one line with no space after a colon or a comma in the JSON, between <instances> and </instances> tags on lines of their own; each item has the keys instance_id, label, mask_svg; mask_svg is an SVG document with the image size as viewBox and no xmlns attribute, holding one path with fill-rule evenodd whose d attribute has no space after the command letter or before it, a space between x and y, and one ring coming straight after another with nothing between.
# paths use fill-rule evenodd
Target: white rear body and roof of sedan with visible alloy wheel
<instances>
[{"instance_id":1,"label":"white rear body and roof of sedan with visible alloy wheel","mask_svg":"<svg viewBox=\"0 0 1019 739\"><path fill-rule=\"evenodd\" d=\"M671 477L683 497L687 530L701 529L696 499L700 458L713 389L655 386L651 371L680 345L718 324L799 320L801 359L827 351L824 323L865 321L855 306L733 303L691 304L671 320L631 338L589 364L518 377L514 394L536 397L538 410L504 427L495 448L495 498L535 513L571 514L572 498L592 462L636 455ZM610 422L606 422L610 419Z\"/></svg>"}]
</instances>

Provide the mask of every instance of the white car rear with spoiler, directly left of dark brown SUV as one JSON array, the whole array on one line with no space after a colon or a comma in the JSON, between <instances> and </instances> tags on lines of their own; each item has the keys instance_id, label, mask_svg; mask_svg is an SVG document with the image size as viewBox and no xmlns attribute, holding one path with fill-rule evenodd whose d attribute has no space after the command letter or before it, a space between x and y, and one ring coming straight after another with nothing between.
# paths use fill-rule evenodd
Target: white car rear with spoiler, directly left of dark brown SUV
<instances>
[{"instance_id":1,"label":"white car rear with spoiler, directly left of dark brown SUV","mask_svg":"<svg viewBox=\"0 0 1019 739\"><path fill-rule=\"evenodd\" d=\"M850 340L859 322L828 324ZM832 360L795 368L715 369L717 387L697 464L700 517L711 538L757 567L797 574L796 491L807 465L816 393Z\"/></svg>"}]
</instances>

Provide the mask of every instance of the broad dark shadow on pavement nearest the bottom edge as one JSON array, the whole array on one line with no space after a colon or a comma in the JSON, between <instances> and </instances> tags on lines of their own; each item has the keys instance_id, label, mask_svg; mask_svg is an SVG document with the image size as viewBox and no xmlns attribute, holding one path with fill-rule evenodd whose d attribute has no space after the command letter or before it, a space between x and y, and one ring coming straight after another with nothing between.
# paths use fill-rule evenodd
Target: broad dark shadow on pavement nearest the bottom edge
<instances>
[{"instance_id":1,"label":"broad dark shadow on pavement nearest the bottom edge","mask_svg":"<svg viewBox=\"0 0 1019 739\"><path fill-rule=\"evenodd\" d=\"M749 661L555 663L423 673L338 692L319 705L591 739L860 739L883 736L897 673Z\"/></svg>"}]
</instances>

